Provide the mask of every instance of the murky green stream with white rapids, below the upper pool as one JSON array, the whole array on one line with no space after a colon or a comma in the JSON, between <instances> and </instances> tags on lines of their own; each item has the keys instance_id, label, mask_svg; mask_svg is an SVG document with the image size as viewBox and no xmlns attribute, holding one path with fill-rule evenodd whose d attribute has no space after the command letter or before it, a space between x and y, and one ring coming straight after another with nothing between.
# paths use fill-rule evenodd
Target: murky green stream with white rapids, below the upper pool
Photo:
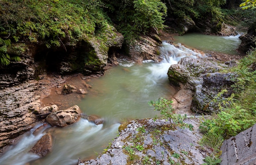
<instances>
[{"instance_id":1,"label":"murky green stream with white rapids, below the upper pool","mask_svg":"<svg viewBox=\"0 0 256 165\"><path fill-rule=\"evenodd\" d=\"M227 42L223 37L221 40ZM233 50L238 45L233 47ZM92 90L82 101L75 104L85 114L101 116L105 121L103 124L95 125L81 119L65 128L47 126L33 134L34 130L42 125L38 124L1 155L0 165L77 164L78 158L95 158L98 153L103 152L108 143L117 136L120 121L158 115L158 112L153 111L153 107L148 106L148 101L159 97L170 98L174 95L175 89L170 86L166 74L170 65L177 64L181 58L187 56L205 57L181 44L174 46L163 42L159 49L163 57L160 63L144 61L143 64L135 64L126 59L119 59L119 66L107 70L104 76L88 82ZM53 150L47 156L38 158L29 150L47 132L53 136Z\"/></svg>"}]
</instances>

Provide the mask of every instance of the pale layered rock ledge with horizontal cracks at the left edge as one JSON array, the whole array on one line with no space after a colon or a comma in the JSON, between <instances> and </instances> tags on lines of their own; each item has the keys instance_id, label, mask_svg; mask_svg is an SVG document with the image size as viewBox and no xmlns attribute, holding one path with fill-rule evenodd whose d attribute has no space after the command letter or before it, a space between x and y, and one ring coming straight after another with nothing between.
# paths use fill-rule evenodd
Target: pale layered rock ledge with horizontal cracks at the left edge
<instances>
[{"instance_id":1,"label":"pale layered rock ledge with horizontal cracks at the left edge","mask_svg":"<svg viewBox=\"0 0 256 165\"><path fill-rule=\"evenodd\" d=\"M0 90L0 151L39 120L31 110L40 106L37 91L37 81Z\"/></svg>"}]
</instances>

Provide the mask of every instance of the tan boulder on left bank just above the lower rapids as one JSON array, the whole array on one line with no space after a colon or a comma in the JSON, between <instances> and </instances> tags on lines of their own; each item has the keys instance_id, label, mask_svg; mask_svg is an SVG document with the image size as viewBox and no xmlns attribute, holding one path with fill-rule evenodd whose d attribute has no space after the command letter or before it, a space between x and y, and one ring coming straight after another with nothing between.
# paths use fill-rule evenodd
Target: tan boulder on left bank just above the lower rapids
<instances>
[{"instance_id":1,"label":"tan boulder on left bank just above the lower rapids","mask_svg":"<svg viewBox=\"0 0 256 165\"><path fill-rule=\"evenodd\" d=\"M73 106L67 110L58 110L50 113L46 121L52 126L65 127L78 121L81 117L81 110L78 106Z\"/></svg>"}]
</instances>

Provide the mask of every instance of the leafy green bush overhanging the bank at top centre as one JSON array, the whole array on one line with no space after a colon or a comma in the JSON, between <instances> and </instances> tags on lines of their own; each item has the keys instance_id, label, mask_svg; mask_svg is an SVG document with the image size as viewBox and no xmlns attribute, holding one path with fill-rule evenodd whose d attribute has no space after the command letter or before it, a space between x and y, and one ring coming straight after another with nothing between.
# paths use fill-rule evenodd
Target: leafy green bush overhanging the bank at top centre
<instances>
[{"instance_id":1,"label":"leafy green bush overhanging the bank at top centre","mask_svg":"<svg viewBox=\"0 0 256 165\"><path fill-rule=\"evenodd\" d=\"M146 34L149 28L163 29L166 5L160 0L103 0L108 6L109 15L127 42L131 42L138 34ZM114 13L114 14L113 14Z\"/></svg>"}]
</instances>

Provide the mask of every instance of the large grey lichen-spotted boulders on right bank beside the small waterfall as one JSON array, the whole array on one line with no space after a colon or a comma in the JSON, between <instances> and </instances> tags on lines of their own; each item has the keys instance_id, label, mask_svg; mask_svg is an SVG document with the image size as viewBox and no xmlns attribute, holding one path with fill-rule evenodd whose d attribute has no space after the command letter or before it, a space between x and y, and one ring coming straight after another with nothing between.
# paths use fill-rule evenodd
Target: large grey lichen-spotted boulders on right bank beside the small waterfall
<instances>
[{"instance_id":1,"label":"large grey lichen-spotted boulders on right bank beside the small waterfall","mask_svg":"<svg viewBox=\"0 0 256 165\"><path fill-rule=\"evenodd\" d=\"M216 112L216 103L213 99L222 89L227 89L227 93L222 95L229 97L233 89L231 85L235 83L236 74L218 73L220 69L225 69L225 64L217 64L209 59L192 59L185 57L178 64L171 65L168 70L168 79L184 90L193 91L191 110L198 114L209 114Z\"/></svg>"}]
</instances>

